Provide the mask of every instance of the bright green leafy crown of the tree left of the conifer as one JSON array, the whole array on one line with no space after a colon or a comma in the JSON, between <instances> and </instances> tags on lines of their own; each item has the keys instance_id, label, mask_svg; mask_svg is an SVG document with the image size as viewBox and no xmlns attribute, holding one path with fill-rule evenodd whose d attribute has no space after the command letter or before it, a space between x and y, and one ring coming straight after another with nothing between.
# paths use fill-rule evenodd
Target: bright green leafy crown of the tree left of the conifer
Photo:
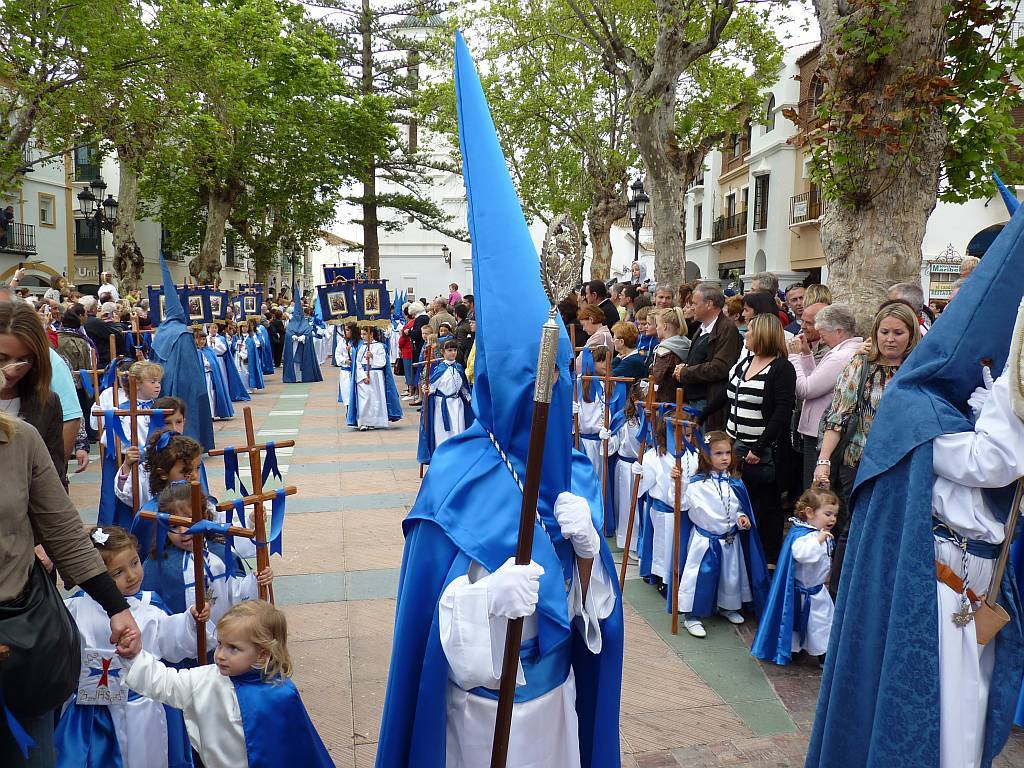
<instances>
[{"instance_id":1,"label":"bright green leafy crown of the tree left of the conifer","mask_svg":"<svg viewBox=\"0 0 1024 768\"><path fill-rule=\"evenodd\" d=\"M333 37L290 0L164 0L157 36L181 55L147 197L178 249L202 241L205 207L228 201L265 269L284 240L308 243L334 219L340 187L392 136L385 104L352 93Z\"/></svg>"}]
</instances>

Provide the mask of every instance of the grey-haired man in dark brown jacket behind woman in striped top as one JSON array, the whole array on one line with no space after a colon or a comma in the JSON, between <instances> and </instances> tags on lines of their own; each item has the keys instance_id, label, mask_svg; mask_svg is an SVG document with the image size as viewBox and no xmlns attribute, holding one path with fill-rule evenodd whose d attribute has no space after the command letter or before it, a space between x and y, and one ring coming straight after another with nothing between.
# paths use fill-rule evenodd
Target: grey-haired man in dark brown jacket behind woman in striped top
<instances>
[{"instance_id":1,"label":"grey-haired man in dark brown jacket behind woman in striped top","mask_svg":"<svg viewBox=\"0 0 1024 768\"><path fill-rule=\"evenodd\" d=\"M702 411L724 387L730 369L739 359L742 339L735 324L722 307L725 295L715 283L700 283L693 289L693 317L700 329L690 344L686 362L676 366L675 378L686 388L688 406ZM725 426L726 410L708 417L705 430Z\"/></svg>"}]
</instances>

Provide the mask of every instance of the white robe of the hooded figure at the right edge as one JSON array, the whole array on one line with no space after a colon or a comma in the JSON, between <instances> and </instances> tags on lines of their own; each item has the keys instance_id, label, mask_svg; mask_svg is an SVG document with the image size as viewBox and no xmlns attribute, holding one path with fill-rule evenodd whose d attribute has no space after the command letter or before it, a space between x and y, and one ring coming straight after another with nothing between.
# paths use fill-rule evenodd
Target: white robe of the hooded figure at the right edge
<instances>
[{"instance_id":1,"label":"white robe of the hooded figure at the right edge","mask_svg":"<svg viewBox=\"0 0 1024 768\"><path fill-rule=\"evenodd\" d=\"M1024 424L1010 406L1007 375L996 380L974 432L941 435L932 444L932 514L961 536L1000 544L1004 525L988 509L982 488L1002 487L1024 475ZM963 557L953 543L936 537L935 559L963 578ZM994 565L994 560L967 556L969 583L976 594L988 591ZM981 765L995 657L994 643L978 645L974 622L963 629L953 625L950 616L959 607L959 595L936 582L940 768Z\"/></svg>"}]
</instances>

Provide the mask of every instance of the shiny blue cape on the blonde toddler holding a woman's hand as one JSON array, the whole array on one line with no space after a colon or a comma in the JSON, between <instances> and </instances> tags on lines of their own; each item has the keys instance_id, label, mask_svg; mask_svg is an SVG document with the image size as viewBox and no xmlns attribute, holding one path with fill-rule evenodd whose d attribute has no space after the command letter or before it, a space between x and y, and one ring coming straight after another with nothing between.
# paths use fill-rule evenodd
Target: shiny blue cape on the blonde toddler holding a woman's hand
<instances>
[{"instance_id":1,"label":"shiny blue cape on the blonde toddler holding a woman's hand","mask_svg":"<svg viewBox=\"0 0 1024 768\"><path fill-rule=\"evenodd\" d=\"M231 678L249 768L334 768L291 680L265 682L259 670Z\"/></svg>"}]
</instances>

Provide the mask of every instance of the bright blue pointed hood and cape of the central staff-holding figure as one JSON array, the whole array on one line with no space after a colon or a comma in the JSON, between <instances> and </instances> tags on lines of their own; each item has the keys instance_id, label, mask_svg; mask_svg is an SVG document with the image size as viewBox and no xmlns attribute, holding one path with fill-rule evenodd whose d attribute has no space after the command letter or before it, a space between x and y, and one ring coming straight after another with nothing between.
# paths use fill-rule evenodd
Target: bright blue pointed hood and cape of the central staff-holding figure
<instances>
[{"instance_id":1,"label":"bright blue pointed hood and cape of the central staff-holding figure","mask_svg":"<svg viewBox=\"0 0 1024 768\"><path fill-rule=\"evenodd\" d=\"M445 585L466 573L471 561L494 571L515 551L522 502L516 477L525 475L525 425L532 410L541 328L551 312L541 289L537 251L461 35L456 37L455 61L477 306L476 421L434 452L432 469L403 525L406 551L378 768L444 765L449 665L438 636L438 600ZM515 328L509 316L516 317ZM571 643L582 765L615 768L623 620L614 563L602 541L601 561L612 574L616 601L601 622L603 650L595 656L569 626L565 580L572 577L574 557L553 514L556 497L569 489L587 499L592 515L601 509L590 462L573 453L569 442L571 354L561 327L535 522L534 561L545 569L537 640L541 656Z\"/></svg>"}]
</instances>

